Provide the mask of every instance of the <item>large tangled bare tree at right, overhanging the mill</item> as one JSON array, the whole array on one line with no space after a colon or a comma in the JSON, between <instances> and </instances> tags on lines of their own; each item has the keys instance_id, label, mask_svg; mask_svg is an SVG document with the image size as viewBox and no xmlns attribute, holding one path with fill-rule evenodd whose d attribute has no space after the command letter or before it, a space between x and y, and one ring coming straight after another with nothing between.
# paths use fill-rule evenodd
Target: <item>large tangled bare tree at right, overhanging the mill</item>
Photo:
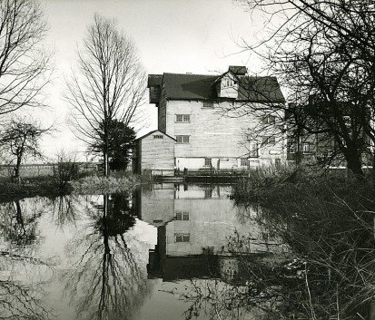
<instances>
[{"instance_id":1,"label":"large tangled bare tree at right, overhanging the mill","mask_svg":"<svg viewBox=\"0 0 375 320\"><path fill-rule=\"evenodd\" d=\"M362 175L362 156L375 141L374 2L238 2L269 18L270 34L246 46L265 59L298 106L288 109L290 128L331 139L348 168Z\"/></svg>"}]
</instances>

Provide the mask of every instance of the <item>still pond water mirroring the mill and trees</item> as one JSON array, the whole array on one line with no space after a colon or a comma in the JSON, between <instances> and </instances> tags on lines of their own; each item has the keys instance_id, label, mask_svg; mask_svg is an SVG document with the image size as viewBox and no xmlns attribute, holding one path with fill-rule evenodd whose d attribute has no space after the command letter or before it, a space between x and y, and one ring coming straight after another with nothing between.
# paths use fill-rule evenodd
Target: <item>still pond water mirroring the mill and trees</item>
<instances>
[{"instance_id":1,"label":"still pond water mirroring the mill and trees","mask_svg":"<svg viewBox=\"0 0 375 320\"><path fill-rule=\"evenodd\" d=\"M231 189L158 184L133 194L1 204L0 315L261 317L262 308L239 302L247 279L238 258L277 257L285 247L258 212L234 206Z\"/></svg>"}]
</instances>

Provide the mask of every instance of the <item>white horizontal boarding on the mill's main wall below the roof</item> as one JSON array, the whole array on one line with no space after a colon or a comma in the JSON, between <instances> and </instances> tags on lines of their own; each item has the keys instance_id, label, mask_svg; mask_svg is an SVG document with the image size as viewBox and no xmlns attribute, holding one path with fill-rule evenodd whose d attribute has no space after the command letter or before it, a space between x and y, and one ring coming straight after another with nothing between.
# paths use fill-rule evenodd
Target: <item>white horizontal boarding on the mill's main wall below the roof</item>
<instances>
[{"instance_id":1,"label":"white horizontal boarding on the mill's main wall below the roof","mask_svg":"<svg viewBox=\"0 0 375 320\"><path fill-rule=\"evenodd\" d=\"M223 103L220 102L220 106ZM246 130L259 125L260 119L254 115L231 118L222 116L221 107L203 108L202 102L168 101L166 108L166 133L189 135L187 144L175 144L176 158L244 158L249 153ZM175 122L175 114L190 114L190 122ZM259 145L262 137L256 138ZM259 158L272 160L285 158L285 141L278 140L274 145L259 150Z\"/></svg>"}]
</instances>

